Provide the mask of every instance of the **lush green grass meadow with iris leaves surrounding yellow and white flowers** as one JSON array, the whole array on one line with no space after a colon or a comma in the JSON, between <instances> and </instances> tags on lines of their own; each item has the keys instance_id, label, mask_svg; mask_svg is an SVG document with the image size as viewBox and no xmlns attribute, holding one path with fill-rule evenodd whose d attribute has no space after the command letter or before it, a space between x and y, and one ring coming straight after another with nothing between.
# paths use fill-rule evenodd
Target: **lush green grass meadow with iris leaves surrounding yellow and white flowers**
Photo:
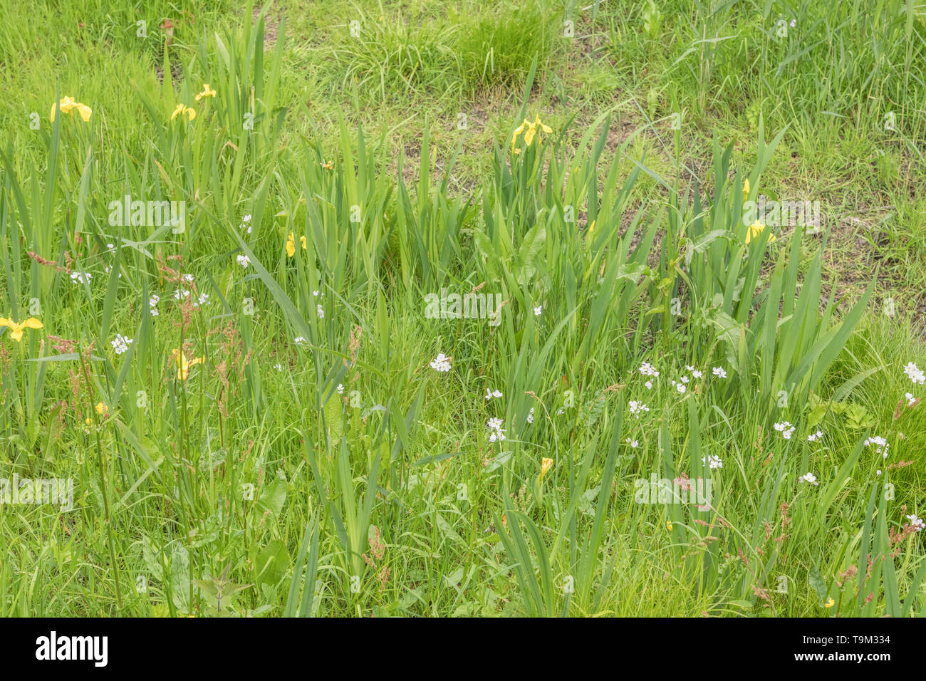
<instances>
[{"instance_id":1,"label":"lush green grass meadow with iris leaves surrounding yellow and white flowers","mask_svg":"<svg viewBox=\"0 0 926 681\"><path fill-rule=\"evenodd\" d=\"M922 16L0 5L0 614L926 612Z\"/></svg>"}]
</instances>

